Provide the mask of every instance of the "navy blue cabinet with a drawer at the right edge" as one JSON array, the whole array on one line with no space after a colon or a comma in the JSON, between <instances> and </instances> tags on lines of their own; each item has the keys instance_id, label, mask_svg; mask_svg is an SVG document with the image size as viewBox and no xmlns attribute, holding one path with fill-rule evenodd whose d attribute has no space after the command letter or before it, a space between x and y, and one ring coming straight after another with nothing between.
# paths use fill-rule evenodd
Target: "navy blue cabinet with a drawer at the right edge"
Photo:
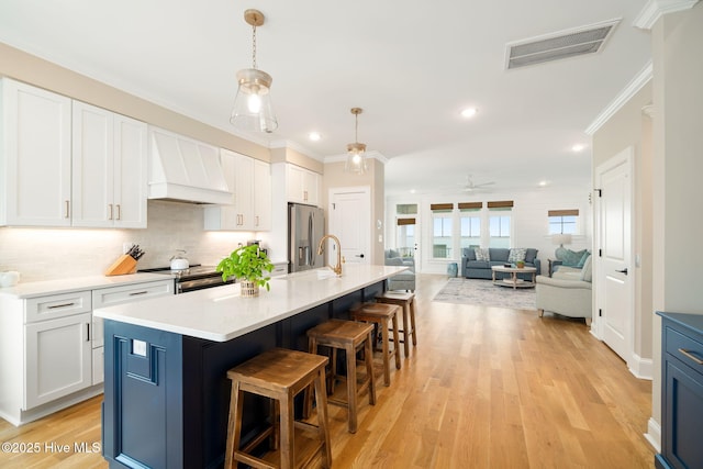
<instances>
[{"instance_id":1,"label":"navy blue cabinet with a drawer at the right edge","mask_svg":"<svg viewBox=\"0 0 703 469\"><path fill-rule=\"evenodd\" d=\"M657 468L703 467L703 315L657 313L661 327L661 453Z\"/></svg>"}]
</instances>

